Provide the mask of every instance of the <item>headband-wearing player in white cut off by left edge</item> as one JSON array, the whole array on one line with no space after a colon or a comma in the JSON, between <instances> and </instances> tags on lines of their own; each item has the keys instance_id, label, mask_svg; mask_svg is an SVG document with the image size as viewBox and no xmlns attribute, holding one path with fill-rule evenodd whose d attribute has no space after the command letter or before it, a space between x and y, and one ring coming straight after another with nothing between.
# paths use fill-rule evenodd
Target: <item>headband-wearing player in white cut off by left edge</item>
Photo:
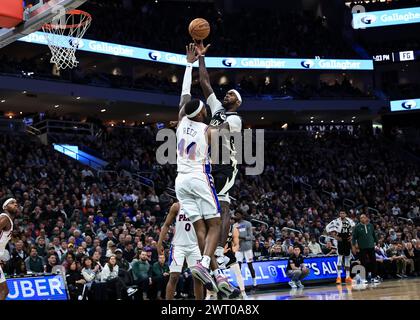
<instances>
[{"instance_id":1,"label":"headband-wearing player in white cut off by left edge","mask_svg":"<svg viewBox=\"0 0 420 320\"><path fill-rule=\"evenodd\" d=\"M9 242L13 231L13 217L18 210L16 199L10 198L3 203L4 212L0 214L0 262L5 253L6 245ZM9 294L6 277L0 263L0 300L6 300Z\"/></svg>"}]
</instances>

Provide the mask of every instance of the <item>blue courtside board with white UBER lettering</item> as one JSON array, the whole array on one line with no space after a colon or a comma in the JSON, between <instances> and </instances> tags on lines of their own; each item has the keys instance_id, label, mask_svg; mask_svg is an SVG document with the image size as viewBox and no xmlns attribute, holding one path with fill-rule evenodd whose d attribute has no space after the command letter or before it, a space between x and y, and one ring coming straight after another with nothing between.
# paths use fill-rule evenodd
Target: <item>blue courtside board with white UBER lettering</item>
<instances>
[{"instance_id":1,"label":"blue courtside board with white UBER lettering","mask_svg":"<svg viewBox=\"0 0 420 320\"><path fill-rule=\"evenodd\" d=\"M61 275L7 279L6 300L68 300Z\"/></svg>"}]
</instances>

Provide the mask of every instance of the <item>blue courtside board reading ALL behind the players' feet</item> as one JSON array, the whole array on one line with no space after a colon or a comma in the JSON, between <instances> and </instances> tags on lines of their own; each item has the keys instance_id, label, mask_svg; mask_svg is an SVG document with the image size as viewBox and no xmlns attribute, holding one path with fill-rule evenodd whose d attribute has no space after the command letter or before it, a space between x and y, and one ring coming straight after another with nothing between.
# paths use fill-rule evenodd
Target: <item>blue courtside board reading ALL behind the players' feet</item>
<instances>
[{"instance_id":1,"label":"blue courtside board reading ALL behind the players' feet","mask_svg":"<svg viewBox=\"0 0 420 320\"><path fill-rule=\"evenodd\" d=\"M288 259L259 261L254 262L255 277L257 284L280 284L287 283L290 279L287 277ZM310 270L307 280L328 280L337 278L337 256L331 257L311 257L305 259L305 264ZM225 271L229 281L237 286L236 277L230 270ZM251 272L246 263L242 264L242 276L246 286L252 285Z\"/></svg>"}]
</instances>

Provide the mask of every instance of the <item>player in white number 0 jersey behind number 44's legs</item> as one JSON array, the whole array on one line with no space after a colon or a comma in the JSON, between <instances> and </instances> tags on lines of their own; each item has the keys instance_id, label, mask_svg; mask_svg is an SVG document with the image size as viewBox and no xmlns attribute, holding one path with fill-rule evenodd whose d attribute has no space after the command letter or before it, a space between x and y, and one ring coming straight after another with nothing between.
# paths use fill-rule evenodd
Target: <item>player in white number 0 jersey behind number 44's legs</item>
<instances>
[{"instance_id":1,"label":"player in white number 0 jersey behind number 44's legs","mask_svg":"<svg viewBox=\"0 0 420 320\"><path fill-rule=\"evenodd\" d=\"M175 222L176 221L176 222ZM198 247L197 236L190 219L186 216L182 205L174 203L169 209L165 223L159 234L157 244L158 250L163 254L162 242L168 234L169 227L175 222L175 232L172 238L171 251L169 254L169 282L166 286L166 300L173 300L178 284L179 276L182 272L185 260L189 268L195 266L201 260L201 252ZM196 300L203 300L203 285L198 279L194 280L194 295Z\"/></svg>"}]
</instances>

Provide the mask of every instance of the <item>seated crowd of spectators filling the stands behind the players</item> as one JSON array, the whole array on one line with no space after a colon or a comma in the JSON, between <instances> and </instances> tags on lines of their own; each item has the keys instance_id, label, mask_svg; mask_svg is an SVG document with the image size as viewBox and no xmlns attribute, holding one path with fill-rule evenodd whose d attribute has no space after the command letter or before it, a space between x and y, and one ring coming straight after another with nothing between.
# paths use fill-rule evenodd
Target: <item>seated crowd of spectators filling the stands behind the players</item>
<instances>
[{"instance_id":1,"label":"seated crowd of spectators filling the stands behind the players","mask_svg":"<svg viewBox=\"0 0 420 320\"><path fill-rule=\"evenodd\" d=\"M26 135L0 136L0 199L21 209L9 244L10 275L53 272L61 265L71 297L164 298L172 231L159 256L156 241L174 201L176 168L157 165L156 129L109 128L88 147L110 162L96 172ZM382 277L419 274L419 164L402 160L381 135L272 132L265 171L244 168L231 192L232 211L253 223L255 259L333 255L325 226L346 208L368 214L378 235ZM136 177L154 181L149 187ZM357 254L353 261L357 263ZM55 268L55 269L54 269ZM184 270L177 297L191 297ZM136 291L137 290L137 291Z\"/></svg>"}]
</instances>

